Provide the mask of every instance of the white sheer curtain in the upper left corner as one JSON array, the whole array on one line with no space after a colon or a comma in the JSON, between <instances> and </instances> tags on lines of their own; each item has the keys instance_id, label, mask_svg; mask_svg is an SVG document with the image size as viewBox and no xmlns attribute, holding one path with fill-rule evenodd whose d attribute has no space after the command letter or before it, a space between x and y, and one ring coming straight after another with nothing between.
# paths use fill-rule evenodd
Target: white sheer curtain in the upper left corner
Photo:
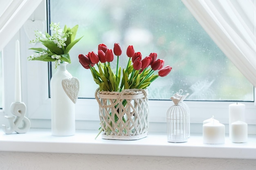
<instances>
[{"instance_id":1,"label":"white sheer curtain in the upper left corner","mask_svg":"<svg viewBox=\"0 0 256 170\"><path fill-rule=\"evenodd\" d=\"M0 51L42 0L0 0Z\"/></svg>"}]
</instances>

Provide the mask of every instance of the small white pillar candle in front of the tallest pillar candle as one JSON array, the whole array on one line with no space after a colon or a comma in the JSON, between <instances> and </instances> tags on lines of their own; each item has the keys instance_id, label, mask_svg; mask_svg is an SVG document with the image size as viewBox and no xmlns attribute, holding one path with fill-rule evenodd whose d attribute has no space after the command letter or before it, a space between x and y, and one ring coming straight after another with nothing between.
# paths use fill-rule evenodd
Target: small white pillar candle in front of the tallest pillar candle
<instances>
[{"instance_id":1,"label":"small white pillar candle in front of the tallest pillar candle","mask_svg":"<svg viewBox=\"0 0 256 170\"><path fill-rule=\"evenodd\" d=\"M243 121L235 121L231 124L231 141L245 143L248 139L248 125Z\"/></svg>"}]
</instances>

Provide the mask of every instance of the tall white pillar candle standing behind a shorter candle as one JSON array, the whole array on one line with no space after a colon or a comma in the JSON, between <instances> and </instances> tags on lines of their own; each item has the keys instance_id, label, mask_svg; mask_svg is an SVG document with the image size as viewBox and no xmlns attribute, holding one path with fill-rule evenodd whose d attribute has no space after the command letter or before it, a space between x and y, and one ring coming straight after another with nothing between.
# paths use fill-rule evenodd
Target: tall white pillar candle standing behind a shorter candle
<instances>
[{"instance_id":1,"label":"tall white pillar candle standing behind a shorter candle","mask_svg":"<svg viewBox=\"0 0 256 170\"><path fill-rule=\"evenodd\" d=\"M245 105L234 103L229 105L229 137L232 138L231 124L235 121L245 121Z\"/></svg>"}]
</instances>

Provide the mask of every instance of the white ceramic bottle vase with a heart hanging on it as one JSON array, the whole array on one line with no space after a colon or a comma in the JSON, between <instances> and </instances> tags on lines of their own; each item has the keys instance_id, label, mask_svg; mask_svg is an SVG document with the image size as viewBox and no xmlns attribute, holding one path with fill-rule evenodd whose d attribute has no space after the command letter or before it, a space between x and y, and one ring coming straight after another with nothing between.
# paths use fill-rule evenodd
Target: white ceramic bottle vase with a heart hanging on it
<instances>
[{"instance_id":1,"label":"white ceramic bottle vase with a heart hanging on it","mask_svg":"<svg viewBox=\"0 0 256 170\"><path fill-rule=\"evenodd\" d=\"M75 134L75 104L62 87L64 78L72 78L66 69L66 63L58 66L51 79L52 135L71 136Z\"/></svg>"}]
</instances>

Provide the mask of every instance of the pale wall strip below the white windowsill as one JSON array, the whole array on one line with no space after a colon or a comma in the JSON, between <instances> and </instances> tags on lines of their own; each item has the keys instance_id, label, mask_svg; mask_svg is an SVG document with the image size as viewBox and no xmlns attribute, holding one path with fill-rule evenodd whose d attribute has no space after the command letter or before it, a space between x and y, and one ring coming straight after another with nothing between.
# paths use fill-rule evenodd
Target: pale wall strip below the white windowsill
<instances>
[{"instance_id":1,"label":"pale wall strip below the white windowsill","mask_svg":"<svg viewBox=\"0 0 256 170\"><path fill-rule=\"evenodd\" d=\"M256 170L256 160L0 152L0 170Z\"/></svg>"}]
</instances>

